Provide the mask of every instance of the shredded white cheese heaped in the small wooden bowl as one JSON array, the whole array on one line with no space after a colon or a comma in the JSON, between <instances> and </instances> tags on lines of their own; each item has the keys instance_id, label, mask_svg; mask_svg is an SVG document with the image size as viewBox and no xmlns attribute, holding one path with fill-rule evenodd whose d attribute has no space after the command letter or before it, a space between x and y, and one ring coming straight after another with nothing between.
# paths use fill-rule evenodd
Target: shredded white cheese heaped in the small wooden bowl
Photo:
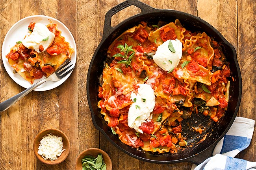
<instances>
[{"instance_id":1,"label":"shredded white cheese heaped in the small wooden bowl","mask_svg":"<svg viewBox=\"0 0 256 170\"><path fill-rule=\"evenodd\" d=\"M52 133L47 135L40 141L37 153L45 160L50 159L50 161L54 161L65 150L63 149L62 137L52 135Z\"/></svg>"}]
</instances>

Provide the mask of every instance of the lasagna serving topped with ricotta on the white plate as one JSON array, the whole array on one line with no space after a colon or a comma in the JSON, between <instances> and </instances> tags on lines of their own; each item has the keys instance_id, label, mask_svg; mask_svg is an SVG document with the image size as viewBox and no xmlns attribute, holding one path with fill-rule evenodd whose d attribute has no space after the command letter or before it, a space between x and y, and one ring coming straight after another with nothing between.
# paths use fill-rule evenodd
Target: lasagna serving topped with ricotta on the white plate
<instances>
[{"instance_id":1,"label":"lasagna serving topped with ricotta on the white plate","mask_svg":"<svg viewBox=\"0 0 256 170\"><path fill-rule=\"evenodd\" d=\"M48 77L65 60L71 58L74 49L70 47L57 24L47 26L31 22L24 40L16 42L6 55L13 73L33 84L35 79Z\"/></svg>"}]
</instances>

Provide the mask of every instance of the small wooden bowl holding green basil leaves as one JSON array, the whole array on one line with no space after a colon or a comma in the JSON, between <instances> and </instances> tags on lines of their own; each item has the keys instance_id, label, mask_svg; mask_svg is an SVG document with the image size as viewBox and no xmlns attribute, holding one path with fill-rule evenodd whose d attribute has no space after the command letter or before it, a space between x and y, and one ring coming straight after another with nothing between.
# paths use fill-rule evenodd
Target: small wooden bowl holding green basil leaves
<instances>
[{"instance_id":1,"label":"small wooden bowl holding green basil leaves","mask_svg":"<svg viewBox=\"0 0 256 170\"><path fill-rule=\"evenodd\" d=\"M91 155L96 158L99 153L102 154L102 158L107 166L106 170L112 170L112 162L111 162L109 155L106 152L104 152L103 150L98 149L98 148L89 148L89 149L81 152L81 154L79 154L78 157L76 158L76 170L82 170L82 168L83 168L82 167L82 159L86 155Z\"/></svg>"}]
</instances>

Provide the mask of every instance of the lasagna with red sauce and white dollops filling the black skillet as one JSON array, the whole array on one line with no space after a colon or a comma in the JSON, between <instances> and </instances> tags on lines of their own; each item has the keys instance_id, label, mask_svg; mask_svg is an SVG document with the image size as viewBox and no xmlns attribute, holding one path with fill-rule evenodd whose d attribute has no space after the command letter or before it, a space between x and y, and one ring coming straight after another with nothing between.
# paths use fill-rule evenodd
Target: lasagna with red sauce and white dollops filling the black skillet
<instances>
[{"instance_id":1,"label":"lasagna with red sauce and white dollops filling the black skillet","mask_svg":"<svg viewBox=\"0 0 256 170\"><path fill-rule=\"evenodd\" d=\"M179 20L141 22L116 38L107 55L98 107L129 146L176 153L187 146L182 120L203 114L217 122L228 106L230 69L220 44Z\"/></svg>"}]
</instances>

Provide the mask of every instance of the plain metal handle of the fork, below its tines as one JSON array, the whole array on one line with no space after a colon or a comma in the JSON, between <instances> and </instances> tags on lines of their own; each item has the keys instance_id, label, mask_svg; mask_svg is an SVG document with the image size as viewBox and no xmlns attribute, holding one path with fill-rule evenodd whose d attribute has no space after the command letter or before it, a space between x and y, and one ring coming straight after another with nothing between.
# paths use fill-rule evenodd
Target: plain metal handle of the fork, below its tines
<instances>
[{"instance_id":1,"label":"plain metal handle of the fork, below its tines","mask_svg":"<svg viewBox=\"0 0 256 170\"><path fill-rule=\"evenodd\" d=\"M26 90L20 92L19 94L17 94L15 96L11 97L10 99L7 99L6 101L0 103L0 112L5 111L9 107L11 107L14 103L19 101L22 97L27 95L30 91L34 90L35 88L37 88L38 86L40 86L41 84L43 84L46 81L47 81L46 78L43 79L43 80L40 80L39 82L37 82L36 84L31 86L30 88L27 88Z\"/></svg>"}]
</instances>

